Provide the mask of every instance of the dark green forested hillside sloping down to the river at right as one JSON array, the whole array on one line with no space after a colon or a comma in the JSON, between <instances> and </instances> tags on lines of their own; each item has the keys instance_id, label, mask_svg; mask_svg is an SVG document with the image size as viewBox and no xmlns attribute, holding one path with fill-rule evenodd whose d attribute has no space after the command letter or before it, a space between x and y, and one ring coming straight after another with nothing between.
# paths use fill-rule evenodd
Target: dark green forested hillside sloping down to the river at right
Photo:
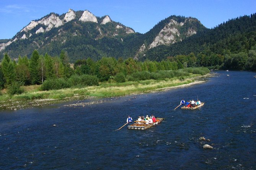
<instances>
[{"instance_id":1,"label":"dark green forested hillside sloping down to the river at right","mask_svg":"<svg viewBox=\"0 0 256 170\"><path fill-rule=\"evenodd\" d=\"M223 22L214 29L201 30L182 42L152 48L140 60L169 58L186 62L185 65L190 62L188 66L255 71L255 45L256 14L251 14Z\"/></svg>"}]
</instances>

